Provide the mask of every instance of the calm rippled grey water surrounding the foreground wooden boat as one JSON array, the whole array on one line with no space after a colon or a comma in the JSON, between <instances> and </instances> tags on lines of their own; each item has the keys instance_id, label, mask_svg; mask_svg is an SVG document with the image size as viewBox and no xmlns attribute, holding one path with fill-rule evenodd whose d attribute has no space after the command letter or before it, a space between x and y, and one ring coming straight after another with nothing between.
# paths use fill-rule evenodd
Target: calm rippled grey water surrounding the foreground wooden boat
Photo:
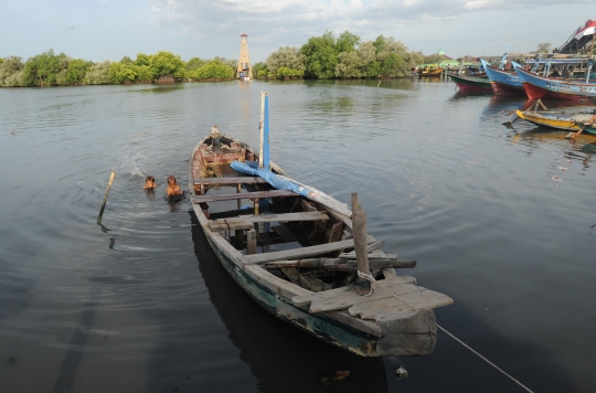
<instances>
[{"instance_id":1,"label":"calm rippled grey water surrounding the foreground wooden boat","mask_svg":"<svg viewBox=\"0 0 596 393\"><path fill-rule=\"evenodd\" d=\"M358 358L236 287L163 183L212 125L257 145L260 91L272 159L358 191L384 251L455 299L439 325L534 392L595 391L596 137L502 126L523 99L376 84L0 89L0 391L523 392L443 332L430 355Z\"/></svg>"}]
</instances>

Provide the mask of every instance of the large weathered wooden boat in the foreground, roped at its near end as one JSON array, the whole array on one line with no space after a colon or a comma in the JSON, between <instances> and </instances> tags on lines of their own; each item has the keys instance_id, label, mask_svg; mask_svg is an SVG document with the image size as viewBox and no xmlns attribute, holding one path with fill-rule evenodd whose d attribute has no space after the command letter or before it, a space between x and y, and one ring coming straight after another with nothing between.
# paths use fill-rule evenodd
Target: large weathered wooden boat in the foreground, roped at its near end
<instances>
[{"instance_id":1,"label":"large weathered wooden boat in the foreground, roped at its near end","mask_svg":"<svg viewBox=\"0 0 596 393\"><path fill-rule=\"evenodd\" d=\"M267 150L260 157L267 168ZM366 235L365 226L360 237L345 204L288 178L273 162L259 173L292 184L294 191L234 169L234 161L255 160L255 149L212 127L189 161L193 210L238 286L278 318L359 355L430 353L437 339L433 308L453 299L416 286L412 276L396 275L395 267L415 262L384 254L383 242ZM254 205L242 208L241 200ZM370 296L354 286L362 263L354 247L370 259L376 280Z\"/></svg>"}]
</instances>

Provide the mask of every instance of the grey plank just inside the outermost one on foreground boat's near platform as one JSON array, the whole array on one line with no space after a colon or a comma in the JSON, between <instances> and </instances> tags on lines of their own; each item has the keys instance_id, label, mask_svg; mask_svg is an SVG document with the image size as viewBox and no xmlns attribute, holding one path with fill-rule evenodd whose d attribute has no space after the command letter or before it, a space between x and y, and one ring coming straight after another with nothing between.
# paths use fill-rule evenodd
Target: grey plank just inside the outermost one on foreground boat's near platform
<instances>
[{"instance_id":1,"label":"grey plank just inside the outermost one on foreground boat's near platform","mask_svg":"<svg viewBox=\"0 0 596 393\"><path fill-rule=\"evenodd\" d=\"M394 295L418 293L423 289L426 289L426 288L418 287L413 284L385 284L383 283L383 285L391 291L385 290L384 288L381 288L379 286L375 286L371 296L362 296L356 293L358 287L351 287L350 289L348 290L344 289L343 293L336 295L333 297L327 297L323 299L312 300L310 302L310 314L321 312L321 311L343 310L354 305L360 305L362 302L371 302L373 300L394 297Z\"/></svg>"}]
</instances>

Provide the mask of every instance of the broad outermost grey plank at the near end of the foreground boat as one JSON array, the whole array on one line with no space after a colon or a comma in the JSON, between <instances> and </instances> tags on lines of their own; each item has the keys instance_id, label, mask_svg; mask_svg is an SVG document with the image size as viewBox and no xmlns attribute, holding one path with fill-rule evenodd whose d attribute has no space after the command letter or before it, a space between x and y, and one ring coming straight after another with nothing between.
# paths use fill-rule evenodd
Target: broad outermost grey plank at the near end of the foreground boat
<instances>
[{"instance_id":1,"label":"broad outermost grey plank at the near end of the foreground boat","mask_svg":"<svg viewBox=\"0 0 596 393\"><path fill-rule=\"evenodd\" d=\"M423 311L436 307L451 305L454 299L447 295L436 293L430 289L417 287L421 290L413 291L397 297L361 302L348 309L351 316L359 316L362 319L379 321L397 314L408 314L412 311ZM377 290L384 290L380 288Z\"/></svg>"}]
</instances>

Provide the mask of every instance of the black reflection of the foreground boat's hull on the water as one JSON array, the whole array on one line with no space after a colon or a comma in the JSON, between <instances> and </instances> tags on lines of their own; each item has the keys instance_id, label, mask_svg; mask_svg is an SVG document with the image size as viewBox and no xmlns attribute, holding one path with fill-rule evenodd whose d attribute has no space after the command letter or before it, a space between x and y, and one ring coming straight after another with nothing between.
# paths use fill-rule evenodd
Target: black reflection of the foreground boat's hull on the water
<instances>
[{"instance_id":1,"label":"black reflection of the foreground boat's hull on the water","mask_svg":"<svg viewBox=\"0 0 596 393\"><path fill-rule=\"evenodd\" d=\"M382 359L361 358L322 343L280 321L260 308L241 289L210 249L196 217L192 240L199 269L230 339L251 367L260 392L386 392ZM320 374L350 371L326 385Z\"/></svg>"}]
</instances>

